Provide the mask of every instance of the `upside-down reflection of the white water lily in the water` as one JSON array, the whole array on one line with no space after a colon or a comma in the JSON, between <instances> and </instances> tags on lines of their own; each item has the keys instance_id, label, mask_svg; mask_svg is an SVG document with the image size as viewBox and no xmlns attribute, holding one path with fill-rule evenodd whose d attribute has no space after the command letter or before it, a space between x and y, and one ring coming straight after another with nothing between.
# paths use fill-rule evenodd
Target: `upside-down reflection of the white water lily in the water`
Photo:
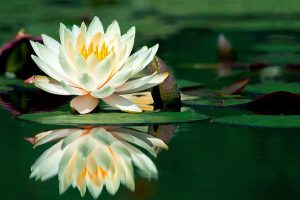
<instances>
[{"instance_id":1,"label":"upside-down reflection of the white water lily in the water","mask_svg":"<svg viewBox=\"0 0 300 200\"><path fill-rule=\"evenodd\" d=\"M31 177L46 180L58 174L60 193L72 185L82 196L87 188L94 198L103 186L110 194L120 183L134 190L133 165L143 177L157 177L152 160L136 146L153 156L155 147L167 148L160 139L125 128L60 129L40 133L31 142L38 146L59 139L33 164Z\"/></svg>"}]
</instances>

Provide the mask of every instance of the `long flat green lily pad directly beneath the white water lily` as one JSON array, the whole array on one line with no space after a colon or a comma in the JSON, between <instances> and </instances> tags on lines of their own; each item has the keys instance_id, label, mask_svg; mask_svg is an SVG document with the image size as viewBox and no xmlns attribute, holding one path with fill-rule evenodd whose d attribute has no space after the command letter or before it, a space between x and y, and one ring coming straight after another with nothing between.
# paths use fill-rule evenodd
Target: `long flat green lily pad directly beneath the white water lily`
<instances>
[{"instance_id":1,"label":"long flat green lily pad directly beneath the white water lily","mask_svg":"<svg viewBox=\"0 0 300 200\"><path fill-rule=\"evenodd\" d=\"M148 112L148 113L91 113L87 115L73 115L69 112L46 112L25 114L19 119L56 125L144 125L144 124L172 124L201 121L208 116L196 112Z\"/></svg>"}]
</instances>

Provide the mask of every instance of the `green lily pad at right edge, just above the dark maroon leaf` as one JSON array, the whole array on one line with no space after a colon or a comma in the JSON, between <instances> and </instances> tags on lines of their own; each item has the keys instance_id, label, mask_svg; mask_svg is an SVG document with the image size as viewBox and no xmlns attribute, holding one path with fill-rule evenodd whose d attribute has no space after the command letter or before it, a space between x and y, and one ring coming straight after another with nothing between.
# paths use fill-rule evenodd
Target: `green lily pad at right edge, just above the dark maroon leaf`
<instances>
[{"instance_id":1,"label":"green lily pad at right edge, just above the dark maroon leaf","mask_svg":"<svg viewBox=\"0 0 300 200\"><path fill-rule=\"evenodd\" d=\"M256 94L266 94L276 91L300 93L300 83L283 81L264 81L261 84L248 85L246 91Z\"/></svg>"}]
</instances>

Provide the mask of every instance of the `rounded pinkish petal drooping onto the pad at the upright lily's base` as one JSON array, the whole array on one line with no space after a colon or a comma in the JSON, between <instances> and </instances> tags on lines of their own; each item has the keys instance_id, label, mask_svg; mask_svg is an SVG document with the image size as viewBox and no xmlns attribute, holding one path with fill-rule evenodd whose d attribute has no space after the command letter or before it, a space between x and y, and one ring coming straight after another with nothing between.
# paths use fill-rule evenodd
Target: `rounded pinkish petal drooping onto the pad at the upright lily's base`
<instances>
[{"instance_id":1,"label":"rounded pinkish petal drooping onto the pad at the upright lily's base","mask_svg":"<svg viewBox=\"0 0 300 200\"><path fill-rule=\"evenodd\" d=\"M98 102L99 100L91 95L84 95L72 99L70 105L80 114L86 114L93 111L97 107Z\"/></svg>"}]
</instances>

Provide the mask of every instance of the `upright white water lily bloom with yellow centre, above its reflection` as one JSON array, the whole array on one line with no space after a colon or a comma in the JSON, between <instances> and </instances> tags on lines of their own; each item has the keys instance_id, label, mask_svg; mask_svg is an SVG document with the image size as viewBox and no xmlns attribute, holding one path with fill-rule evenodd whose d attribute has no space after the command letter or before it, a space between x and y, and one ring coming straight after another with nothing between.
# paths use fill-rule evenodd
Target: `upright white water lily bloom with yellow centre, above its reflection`
<instances>
[{"instance_id":1,"label":"upright white water lily bloom with yellow centre, above its reflection","mask_svg":"<svg viewBox=\"0 0 300 200\"><path fill-rule=\"evenodd\" d=\"M91 112L99 99L122 111L142 112L145 108L126 95L152 88L168 76L155 72L130 80L153 60L158 50L158 45L145 46L130 56L135 27L121 35L114 21L104 32L99 18L94 17L88 27L82 23L70 30L61 24L59 34L60 43L47 35L42 35L44 45L31 42L36 53L32 59L48 76L36 75L26 82L49 93L77 95L70 105L80 114Z\"/></svg>"}]
</instances>

